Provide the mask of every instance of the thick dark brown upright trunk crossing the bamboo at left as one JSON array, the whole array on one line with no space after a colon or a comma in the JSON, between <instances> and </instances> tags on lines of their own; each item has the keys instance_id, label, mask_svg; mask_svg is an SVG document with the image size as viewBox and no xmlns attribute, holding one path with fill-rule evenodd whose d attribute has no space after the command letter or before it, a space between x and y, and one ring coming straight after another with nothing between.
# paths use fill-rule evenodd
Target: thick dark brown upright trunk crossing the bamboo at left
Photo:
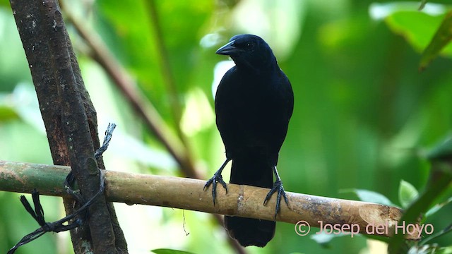
<instances>
[{"instance_id":1,"label":"thick dark brown upright trunk crossing the bamboo at left","mask_svg":"<svg viewBox=\"0 0 452 254\"><path fill-rule=\"evenodd\" d=\"M35 84L54 164L71 165L85 200L99 188L94 158L95 109L90 102L56 1L11 0L11 8ZM103 167L103 162L99 162ZM62 183L61 183L62 184ZM65 199L66 214L77 205ZM102 195L90 207L88 224L71 231L75 253L126 253L112 205ZM115 226L113 226L115 225Z\"/></svg>"}]
</instances>

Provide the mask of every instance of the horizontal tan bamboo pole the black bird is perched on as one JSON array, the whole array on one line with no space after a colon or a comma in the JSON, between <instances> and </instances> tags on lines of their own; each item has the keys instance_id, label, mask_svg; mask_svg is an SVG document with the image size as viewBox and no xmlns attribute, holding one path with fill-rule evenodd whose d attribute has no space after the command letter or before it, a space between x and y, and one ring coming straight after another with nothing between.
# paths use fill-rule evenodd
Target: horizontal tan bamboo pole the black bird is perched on
<instances>
[{"instance_id":1,"label":"horizontal tan bamboo pole the black bird is perched on","mask_svg":"<svg viewBox=\"0 0 452 254\"><path fill-rule=\"evenodd\" d=\"M69 167L22 162L0 161L0 191L30 193L37 189L42 195L67 196L63 188ZM111 202L124 202L129 205L157 205L174 207L200 212L227 214L240 217L273 220L275 212L275 196L266 206L263 200L268 193L266 188L239 186L228 184L225 193L222 186L217 187L217 202L213 206L211 187L203 191L206 183L197 179L186 179L174 176L154 176L146 174L130 174L118 171L105 172L105 195ZM398 222L402 211L398 207L389 207L369 202L325 198L315 195L287 193L289 207L283 202L279 222L296 224L297 234L307 233L307 227L319 227L331 224L347 230L347 225L359 226L359 233L370 234L374 229L381 236L392 236L395 225L399 225L398 234L402 231ZM388 229L376 229L376 226ZM298 227L298 228L297 228ZM318 232L318 231L316 231ZM419 239L419 230L405 232L405 238Z\"/></svg>"}]
</instances>

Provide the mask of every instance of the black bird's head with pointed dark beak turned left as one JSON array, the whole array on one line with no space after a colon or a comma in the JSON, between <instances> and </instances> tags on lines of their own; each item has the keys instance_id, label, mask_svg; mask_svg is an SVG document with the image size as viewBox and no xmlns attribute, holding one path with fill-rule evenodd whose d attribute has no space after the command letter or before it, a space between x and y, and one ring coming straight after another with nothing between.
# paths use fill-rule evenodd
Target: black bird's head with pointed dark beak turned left
<instances>
[{"instance_id":1,"label":"black bird's head with pointed dark beak turned left","mask_svg":"<svg viewBox=\"0 0 452 254\"><path fill-rule=\"evenodd\" d=\"M230 56L238 66L263 69L276 63L268 44L256 35L235 35L216 54Z\"/></svg>"}]
</instances>

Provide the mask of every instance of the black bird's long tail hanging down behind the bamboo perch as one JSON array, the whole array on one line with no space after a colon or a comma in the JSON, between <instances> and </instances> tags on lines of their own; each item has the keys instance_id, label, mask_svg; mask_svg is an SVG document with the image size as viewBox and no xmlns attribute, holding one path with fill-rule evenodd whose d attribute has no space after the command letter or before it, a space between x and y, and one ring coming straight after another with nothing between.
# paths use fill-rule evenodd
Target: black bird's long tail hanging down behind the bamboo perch
<instances>
[{"instance_id":1,"label":"black bird's long tail hanging down behind the bamboo perch","mask_svg":"<svg viewBox=\"0 0 452 254\"><path fill-rule=\"evenodd\" d=\"M273 171L268 159L261 155L234 157L230 183L271 188ZM263 247L275 235L275 222L263 219L225 216L225 228L242 246Z\"/></svg>"}]
</instances>

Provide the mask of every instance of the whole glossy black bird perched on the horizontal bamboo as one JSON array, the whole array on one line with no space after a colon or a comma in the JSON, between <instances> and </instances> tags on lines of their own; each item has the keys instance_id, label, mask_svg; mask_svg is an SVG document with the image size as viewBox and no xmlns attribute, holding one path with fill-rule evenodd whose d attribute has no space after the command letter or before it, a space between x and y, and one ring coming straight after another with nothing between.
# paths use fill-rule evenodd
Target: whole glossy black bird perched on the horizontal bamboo
<instances>
[{"instance_id":1,"label":"whole glossy black bird perched on the horizontal bamboo","mask_svg":"<svg viewBox=\"0 0 452 254\"><path fill-rule=\"evenodd\" d=\"M217 183L227 191L221 172L232 160L230 183L271 188L263 205L278 193L276 218L281 197L288 205L276 164L294 107L292 86L261 37L235 35L216 54L230 56L235 66L223 76L215 95L226 160L204 189L212 183L215 205ZM225 216L225 227L242 246L266 246L275 234L275 222L263 219Z\"/></svg>"}]
</instances>

